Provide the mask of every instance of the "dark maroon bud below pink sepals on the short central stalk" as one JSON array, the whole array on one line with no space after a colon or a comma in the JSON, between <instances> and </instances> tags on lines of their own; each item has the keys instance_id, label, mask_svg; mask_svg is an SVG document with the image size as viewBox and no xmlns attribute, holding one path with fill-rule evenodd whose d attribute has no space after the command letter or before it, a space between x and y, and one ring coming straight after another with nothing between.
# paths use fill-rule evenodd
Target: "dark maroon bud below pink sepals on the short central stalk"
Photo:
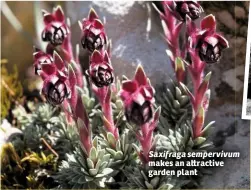
<instances>
[{"instance_id":1,"label":"dark maroon bud below pink sepals on the short central stalk","mask_svg":"<svg viewBox=\"0 0 251 190\"><path fill-rule=\"evenodd\" d=\"M136 102L125 110L126 119L138 126L149 122L153 117L153 106L149 101L145 101L143 105Z\"/></svg>"}]
</instances>

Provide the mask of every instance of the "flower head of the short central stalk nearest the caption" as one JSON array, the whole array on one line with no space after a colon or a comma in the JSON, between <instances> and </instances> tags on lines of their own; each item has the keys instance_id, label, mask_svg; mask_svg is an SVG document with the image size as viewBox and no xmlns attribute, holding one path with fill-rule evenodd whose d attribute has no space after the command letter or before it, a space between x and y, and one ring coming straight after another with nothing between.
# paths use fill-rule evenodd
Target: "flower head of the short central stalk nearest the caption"
<instances>
[{"instance_id":1,"label":"flower head of the short central stalk nearest the caption","mask_svg":"<svg viewBox=\"0 0 251 190\"><path fill-rule=\"evenodd\" d=\"M142 66L138 66L134 80L122 82L120 97L124 102L125 115L129 122L143 125L153 117L154 89Z\"/></svg>"}]
</instances>

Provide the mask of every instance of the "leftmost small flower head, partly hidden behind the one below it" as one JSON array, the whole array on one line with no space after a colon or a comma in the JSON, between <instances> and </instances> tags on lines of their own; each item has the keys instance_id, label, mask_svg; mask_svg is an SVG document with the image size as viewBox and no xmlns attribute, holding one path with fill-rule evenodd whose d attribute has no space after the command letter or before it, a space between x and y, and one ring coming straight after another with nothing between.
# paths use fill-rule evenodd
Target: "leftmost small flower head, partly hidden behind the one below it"
<instances>
[{"instance_id":1,"label":"leftmost small flower head, partly hidden behind the one below it","mask_svg":"<svg viewBox=\"0 0 251 190\"><path fill-rule=\"evenodd\" d=\"M33 53L34 57L34 68L35 68L35 74L38 75L39 71L41 71L41 65L42 64L52 64L53 58L51 55L46 54L38 49L36 49L36 52Z\"/></svg>"}]
</instances>

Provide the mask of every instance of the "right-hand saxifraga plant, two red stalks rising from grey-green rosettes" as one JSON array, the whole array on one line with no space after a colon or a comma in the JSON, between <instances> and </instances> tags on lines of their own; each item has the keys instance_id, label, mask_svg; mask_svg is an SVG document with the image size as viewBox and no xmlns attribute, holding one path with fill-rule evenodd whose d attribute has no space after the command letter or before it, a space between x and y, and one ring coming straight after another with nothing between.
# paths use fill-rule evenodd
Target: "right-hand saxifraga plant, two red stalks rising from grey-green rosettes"
<instances>
[{"instance_id":1,"label":"right-hand saxifraga plant, two red stalks rising from grey-green rosettes","mask_svg":"<svg viewBox=\"0 0 251 190\"><path fill-rule=\"evenodd\" d=\"M207 64L220 61L223 50L228 48L228 41L216 32L213 15L202 18L200 27L196 26L194 21L203 12L197 1L163 1L161 6L158 4L161 10L155 4L153 6L161 18L169 47L166 53L177 80L176 85L167 85L164 93L157 98L163 107L157 149L171 152L205 151L212 145L207 137L214 121L204 124L212 75L211 72L204 72ZM185 34L181 32L182 26L185 26ZM185 40L180 44L182 37ZM184 84L185 80L189 80L187 73L191 77L193 92Z\"/></svg>"}]
</instances>

